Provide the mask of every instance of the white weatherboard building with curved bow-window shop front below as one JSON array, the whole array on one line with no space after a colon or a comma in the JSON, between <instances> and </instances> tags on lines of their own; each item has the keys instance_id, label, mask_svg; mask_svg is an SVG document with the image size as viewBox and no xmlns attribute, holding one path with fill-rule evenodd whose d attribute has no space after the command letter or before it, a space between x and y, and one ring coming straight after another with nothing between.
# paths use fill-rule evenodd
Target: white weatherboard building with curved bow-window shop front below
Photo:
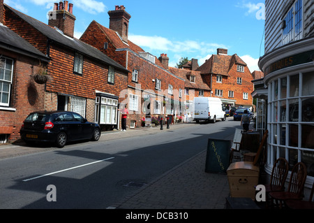
<instances>
[{"instance_id":1,"label":"white weatherboard building with curved bow-window shop front below","mask_svg":"<svg viewBox=\"0 0 314 223\"><path fill-rule=\"evenodd\" d=\"M259 66L268 89L267 164L285 157L308 170L305 195L314 180L314 1L266 0L265 55ZM289 175L288 175L289 179Z\"/></svg>"}]
</instances>

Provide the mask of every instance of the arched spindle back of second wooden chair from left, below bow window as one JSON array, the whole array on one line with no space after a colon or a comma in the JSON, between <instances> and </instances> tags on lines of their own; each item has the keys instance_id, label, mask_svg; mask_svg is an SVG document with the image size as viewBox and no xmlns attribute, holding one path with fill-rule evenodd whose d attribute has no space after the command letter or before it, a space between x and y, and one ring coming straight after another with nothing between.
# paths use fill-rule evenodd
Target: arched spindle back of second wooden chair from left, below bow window
<instances>
[{"instance_id":1,"label":"arched spindle back of second wooden chair from left, below bow window","mask_svg":"<svg viewBox=\"0 0 314 223\"><path fill-rule=\"evenodd\" d=\"M306 175L306 165L302 162L295 164L292 168L287 191L297 194L299 197L303 196Z\"/></svg>"}]
</instances>

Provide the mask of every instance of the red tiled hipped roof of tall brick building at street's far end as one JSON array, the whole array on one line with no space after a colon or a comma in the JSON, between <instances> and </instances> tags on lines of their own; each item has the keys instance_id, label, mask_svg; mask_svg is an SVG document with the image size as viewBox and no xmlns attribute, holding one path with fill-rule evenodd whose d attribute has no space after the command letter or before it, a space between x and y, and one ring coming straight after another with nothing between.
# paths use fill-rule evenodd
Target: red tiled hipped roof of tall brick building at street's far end
<instances>
[{"instance_id":1,"label":"red tiled hipped roof of tall brick building at street's far end","mask_svg":"<svg viewBox=\"0 0 314 223\"><path fill-rule=\"evenodd\" d=\"M196 71L202 74L229 75L229 71L234 64L246 66L247 64L238 55L212 55L211 58L202 64Z\"/></svg>"}]
</instances>

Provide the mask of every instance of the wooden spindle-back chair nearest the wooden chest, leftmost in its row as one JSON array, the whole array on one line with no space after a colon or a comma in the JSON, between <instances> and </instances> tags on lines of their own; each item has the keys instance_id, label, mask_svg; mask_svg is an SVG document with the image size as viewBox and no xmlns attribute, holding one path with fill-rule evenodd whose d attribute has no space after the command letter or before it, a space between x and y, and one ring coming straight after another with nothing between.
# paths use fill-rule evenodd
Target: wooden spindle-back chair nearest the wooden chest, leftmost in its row
<instances>
[{"instance_id":1,"label":"wooden spindle-back chair nearest the wooden chest, leftmost in its row","mask_svg":"<svg viewBox=\"0 0 314 223\"><path fill-rule=\"evenodd\" d=\"M266 189L266 207L269 207L269 193L285 191L285 180L289 171L289 163L287 159L280 157L276 159L271 171L269 185L264 185Z\"/></svg>"}]
</instances>

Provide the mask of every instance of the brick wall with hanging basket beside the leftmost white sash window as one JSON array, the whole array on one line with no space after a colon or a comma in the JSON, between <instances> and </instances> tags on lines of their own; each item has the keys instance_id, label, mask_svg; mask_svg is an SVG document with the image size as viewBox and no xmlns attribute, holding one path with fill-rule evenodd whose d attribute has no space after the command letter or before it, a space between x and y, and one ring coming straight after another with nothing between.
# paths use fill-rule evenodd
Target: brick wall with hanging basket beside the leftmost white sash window
<instances>
[{"instance_id":1,"label":"brick wall with hanging basket beside the leftmost white sash window","mask_svg":"<svg viewBox=\"0 0 314 223\"><path fill-rule=\"evenodd\" d=\"M9 141L20 138L20 127L29 113L44 109L45 85L38 85L31 75L39 69L39 62L14 52L0 49L4 57L14 59L10 107L16 110L0 110L0 132L10 127Z\"/></svg>"}]
</instances>

